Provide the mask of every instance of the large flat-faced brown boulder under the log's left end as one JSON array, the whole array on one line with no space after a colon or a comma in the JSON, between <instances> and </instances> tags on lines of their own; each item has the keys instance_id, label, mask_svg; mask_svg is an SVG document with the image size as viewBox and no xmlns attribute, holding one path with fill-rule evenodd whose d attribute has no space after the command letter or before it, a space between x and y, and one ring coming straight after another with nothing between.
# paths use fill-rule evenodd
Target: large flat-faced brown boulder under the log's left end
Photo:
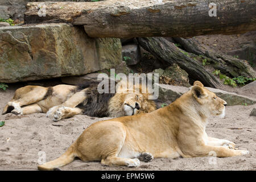
<instances>
[{"instance_id":1,"label":"large flat-faced brown boulder under the log's left end","mask_svg":"<svg viewBox=\"0 0 256 182\"><path fill-rule=\"evenodd\" d=\"M0 82L84 75L122 61L116 38L89 38L65 23L0 28Z\"/></svg>"}]
</instances>

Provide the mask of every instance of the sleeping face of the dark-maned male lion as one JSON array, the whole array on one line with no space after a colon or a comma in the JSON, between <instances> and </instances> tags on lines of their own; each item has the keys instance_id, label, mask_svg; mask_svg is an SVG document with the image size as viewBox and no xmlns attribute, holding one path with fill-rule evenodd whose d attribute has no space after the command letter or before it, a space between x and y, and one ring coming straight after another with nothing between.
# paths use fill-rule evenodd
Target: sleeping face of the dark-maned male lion
<instances>
[{"instance_id":1,"label":"sleeping face of the dark-maned male lion","mask_svg":"<svg viewBox=\"0 0 256 182\"><path fill-rule=\"evenodd\" d=\"M142 94L127 94L125 97L125 102L123 102L123 110L125 115L135 115L141 110L143 102Z\"/></svg>"}]
</instances>

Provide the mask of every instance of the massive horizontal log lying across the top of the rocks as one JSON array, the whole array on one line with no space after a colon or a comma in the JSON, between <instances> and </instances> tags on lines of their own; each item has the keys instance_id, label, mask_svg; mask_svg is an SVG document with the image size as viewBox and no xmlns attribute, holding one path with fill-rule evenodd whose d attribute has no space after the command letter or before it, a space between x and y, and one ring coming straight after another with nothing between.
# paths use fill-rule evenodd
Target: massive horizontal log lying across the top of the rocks
<instances>
[{"instance_id":1,"label":"massive horizontal log lying across the top of the rocks","mask_svg":"<svg viewBox=\"0 0 256 182\"><path fill-rule=\"evenodd\" d=\"M214 0L209 16L203 0L108 0L101 2L31 2L26 23L68 22L84 25L91 37L183 37L242 34L256 30L256 1ZM45 5L45 6L44 6ZM46 16L42 16L46 10ZM41 13L40 16L38 13Z\"/></svg>"}]
</instances>

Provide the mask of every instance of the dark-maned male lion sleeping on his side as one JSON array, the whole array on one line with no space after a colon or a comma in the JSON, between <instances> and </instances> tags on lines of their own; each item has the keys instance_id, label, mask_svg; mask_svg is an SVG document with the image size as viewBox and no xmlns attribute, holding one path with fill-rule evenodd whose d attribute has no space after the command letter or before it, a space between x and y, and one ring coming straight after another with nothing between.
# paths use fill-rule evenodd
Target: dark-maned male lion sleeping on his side
<instances>
[{"instance_id":1,"label":"dark-maned male lion sleeping on his side","mask_svg":"<svg viewBox=\"0 0 256 182\"><path fill-rule=\"evenodd\" d=\"M142 93L142 85L134 85L138 90L124 92L122 82L117 93L98 93L98 82L86 82L82 86L56 85L53 87L24 86L15 91L13 100L3 109L2 114L47 113L53 121L85 114L92 117L121 117L139 113L149 113L156 109L155 102L148 100L151 94Z\"/></svg>"}]
</instances>

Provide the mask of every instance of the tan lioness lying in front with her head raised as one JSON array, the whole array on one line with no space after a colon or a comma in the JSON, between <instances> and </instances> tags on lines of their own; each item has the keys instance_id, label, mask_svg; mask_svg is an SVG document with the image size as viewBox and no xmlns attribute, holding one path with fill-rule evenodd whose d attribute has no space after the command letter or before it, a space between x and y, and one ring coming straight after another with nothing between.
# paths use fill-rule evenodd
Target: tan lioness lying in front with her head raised
<instances>
[{"instance_id":1,"label":"tan lioness lying in front with her head raised","mask_svg":"<svg viewBox=\"0 0 256 182\"><path fill-rule=\"evenodd\" d=\"M75 157L83 161L137 167L139 160L153 158L192 158L245 155L234 150L234 143L208 137L205 133L210 115L224 115L226 102L195 81L191 90L172 104L147 114L138 114L93 123L59 158L38 166L57 169Z\"/></svg>"}]
</instances>

